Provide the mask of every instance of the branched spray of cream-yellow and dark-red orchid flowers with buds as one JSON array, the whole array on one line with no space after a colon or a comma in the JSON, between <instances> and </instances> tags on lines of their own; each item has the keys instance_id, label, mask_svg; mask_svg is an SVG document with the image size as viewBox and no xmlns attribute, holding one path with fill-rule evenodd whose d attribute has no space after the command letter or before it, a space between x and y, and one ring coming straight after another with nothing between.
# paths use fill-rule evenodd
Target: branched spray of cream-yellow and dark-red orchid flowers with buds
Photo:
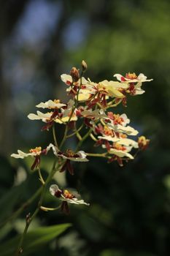
<instances>
[{"instance_id":1,"label":"branched spray of cream-yellow and dark-red orchid flowers with buds","mask_svg":"<svg viewBox=\"0 0 170 256\"><path fill-rule=\"evenodd\" d=\"M115 74L117 80L102 80L99 83L92 82L84 77L87 64L82 61L82 71L73 67L69 75L61 75L61 80L66 84L66 92L69 96L68 102L61 102L60 99L48 100L36 105L47 111L39 110L30 113L28 118L31 120L41 120L45 124L43 131L53 129L54 143L50 143L46 148L40 146L31 148L28 154L18 150L18 154L12 157L21 158L34 157L31 169L39 170L39 179L42 185L45 184L42 178L40 165L42 155L46 155L52 150L55 159L58 159L58 170L63 172L68 170L74 174L72 161L88 162L87 157L104 157L107 162L116 161L123 166L123 162L134 159L136 152L147 148L150 140L144 136L133 140L128 136L136 136L138 131L129 126L130 120L125 113L117 114L112 108L117 107L121 102L127 105L128 95L136 96L143 94L142 83L151 81L144 74L136 75L128 73L125 76ZM55 134L55 125L64 125L65 131L63 138L59 142ZM79 125L79 127L77 127ZM83 129L83 128L86 129ZM63 151L63 145L69 138L75 137L78 140L77 148L73 151L67 149ZM82 151L82 143L90 138L94 141L94 146L101 146L102 153L85 153ZM131 153L134 152L134 153ZM84 200L79 200L75 195L66 189L59 189L58 185L50 186L50 194L62 201L61 210L68 213L68 203L85 204ZM41 206L42 210L49 208Z\"/></svg>"}]
</instances>

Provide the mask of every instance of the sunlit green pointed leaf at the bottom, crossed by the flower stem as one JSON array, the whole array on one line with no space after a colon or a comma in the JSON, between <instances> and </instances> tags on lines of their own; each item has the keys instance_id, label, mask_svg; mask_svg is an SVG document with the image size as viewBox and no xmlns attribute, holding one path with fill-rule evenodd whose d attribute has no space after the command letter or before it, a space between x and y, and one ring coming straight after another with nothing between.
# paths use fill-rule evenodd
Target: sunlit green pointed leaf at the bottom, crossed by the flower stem
<instances>
[{"instance_id":1,"label":"sunlit green pointed leaf at the bottom, crossed by the flower stem","mask_svg":"<svg viewBox=\"0 0 170 256\"><path fill-rule=\"evenodd\" d=\"M40 246L44 246L49 241L51 241L56 236L63 233L71 224L60 224L53 225L50 227L38 227L36 230L31 231L26 235L23 242L23 254L28 255L31 252L35 252ZM0 245L1 256L11 256L17 250L18 243L20 241L20 236L15 236L15 238L10 239L6 243Z\"/></svg>"}]
</instances>

